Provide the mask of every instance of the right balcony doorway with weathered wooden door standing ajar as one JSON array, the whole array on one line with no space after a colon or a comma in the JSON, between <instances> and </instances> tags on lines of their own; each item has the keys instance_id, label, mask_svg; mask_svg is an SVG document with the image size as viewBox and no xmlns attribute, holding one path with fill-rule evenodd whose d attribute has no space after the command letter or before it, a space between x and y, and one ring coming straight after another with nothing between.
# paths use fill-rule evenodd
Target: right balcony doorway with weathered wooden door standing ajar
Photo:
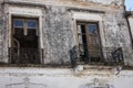
<instances>
[{"instance_id":1,"label":"right balcony doorway with weathered wooden door standing ajar","mask_svg":"<svg viewBox=\"0 0 133 88\"><path fill-rule=\"evenodd\" d=\"M100 62L102 58L98 22L76 22L81 62Z\"/></svg>"}]
</instances>

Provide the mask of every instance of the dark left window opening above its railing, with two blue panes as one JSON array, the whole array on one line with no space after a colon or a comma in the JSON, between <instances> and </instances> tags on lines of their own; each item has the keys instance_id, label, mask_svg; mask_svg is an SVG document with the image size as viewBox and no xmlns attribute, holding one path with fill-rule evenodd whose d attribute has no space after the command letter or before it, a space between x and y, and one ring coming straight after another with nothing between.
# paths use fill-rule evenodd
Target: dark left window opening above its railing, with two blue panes
<instances>
[{"instance_id":1,"label":"dark left window opening above its railing, with two blue panes","mask_svg":"<svg viewBox=\"0 0 133 88\"><path fill-rule=\"evenodd\" d=\"M34 19L13 19L14 33L12 38L19 42L19 47L38 48L37 23L38 20Z\"/></svg>"}]
</instances>

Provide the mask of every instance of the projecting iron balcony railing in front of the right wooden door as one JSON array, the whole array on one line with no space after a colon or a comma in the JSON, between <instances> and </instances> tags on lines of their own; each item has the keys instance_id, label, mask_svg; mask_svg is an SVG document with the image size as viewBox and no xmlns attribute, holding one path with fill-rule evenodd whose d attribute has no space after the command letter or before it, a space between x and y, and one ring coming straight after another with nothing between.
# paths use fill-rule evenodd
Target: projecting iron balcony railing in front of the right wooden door
<instances>
[{"instance_id":1,"label":"projecting iron balcony railing in front of the right wooden door","mask_svg":"<svg viewBox=\"0 0 133 88\"><path fill-rule=\"evenodd\" d=\"M70 51L72 66L76 64L123 64L122 47L104 47L101 50L83 48L84 50L79 50L79 46L74 46L73 50Z\"/></svg>"}]
</instances>

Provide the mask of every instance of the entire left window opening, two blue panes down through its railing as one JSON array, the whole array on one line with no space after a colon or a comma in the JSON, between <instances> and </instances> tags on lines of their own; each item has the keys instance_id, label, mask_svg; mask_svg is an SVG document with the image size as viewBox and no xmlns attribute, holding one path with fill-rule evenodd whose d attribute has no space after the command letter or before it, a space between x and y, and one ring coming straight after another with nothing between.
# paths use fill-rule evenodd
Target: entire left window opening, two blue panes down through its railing
<instances>
[{"instance_id":1,"label":"entire left window opening, two blue panes down through its railing","mask_svg":"<svg viewBox=\"0 0 133 88\"><path fill-rule=\"evenodd\" d=\"M38 19L12 18L10 61L16 64L40 64Z\"/></svg>"}]
</instances>

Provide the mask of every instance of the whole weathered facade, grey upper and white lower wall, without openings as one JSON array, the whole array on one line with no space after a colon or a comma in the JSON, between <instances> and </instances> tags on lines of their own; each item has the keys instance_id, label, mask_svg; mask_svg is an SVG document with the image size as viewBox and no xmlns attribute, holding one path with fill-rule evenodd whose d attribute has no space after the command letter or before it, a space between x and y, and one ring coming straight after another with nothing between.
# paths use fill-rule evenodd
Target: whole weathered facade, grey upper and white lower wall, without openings
<instances>
[{"instance_id":1,"label":"whole weathered facade, grey upper and white lower wall, without openings","mask_svg":"<svg viewBox=\"0 0 133 88\"><path fill-rule=\"evenodd\" d=\"M102 47L122 47L133 66L124 0L6 0L0 2L0 62L9 63L11 16L39 19L45 65L71 66L78 45L76 21L99 22ZM0 88L131 88L133 72L122 67L0 68ZM114 67L114 68L113 68ZM124 85L123 85L124 84Z\"/></svg>"}]
</instances>

